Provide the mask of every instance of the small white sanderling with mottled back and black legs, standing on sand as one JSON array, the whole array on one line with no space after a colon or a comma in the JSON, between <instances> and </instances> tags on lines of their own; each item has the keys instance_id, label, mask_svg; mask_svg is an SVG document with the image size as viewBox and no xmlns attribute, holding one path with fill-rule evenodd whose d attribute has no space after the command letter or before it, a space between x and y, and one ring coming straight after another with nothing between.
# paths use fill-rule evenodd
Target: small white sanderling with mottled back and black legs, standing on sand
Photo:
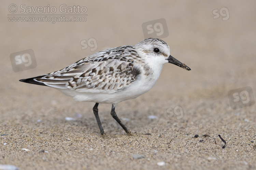
<instances>
[{"instance_id":1,"label":"small white sanderling with mottled back and black legs, standing on sand","mask_svg":"<svg viewBox=\"0 0 256 170\"><path fill-rule=\"evenodd\" d=\"M19 81L56 88L77 101L95 102L93 112L102 135L105 133L98 105L112 103L111 116L130 134L131 131L117 117L115 105L150 90L165 63L191 70L170 55L170 47L165 41L147 38L135 46L103 50L62 70Z\"/></svg>"}]
</instances>

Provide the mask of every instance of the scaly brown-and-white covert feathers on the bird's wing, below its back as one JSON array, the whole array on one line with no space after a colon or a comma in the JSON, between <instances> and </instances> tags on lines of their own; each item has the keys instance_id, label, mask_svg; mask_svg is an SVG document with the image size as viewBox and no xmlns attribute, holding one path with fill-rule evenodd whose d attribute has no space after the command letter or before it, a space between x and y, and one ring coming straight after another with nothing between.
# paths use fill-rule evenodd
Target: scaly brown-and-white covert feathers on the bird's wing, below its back
<instances>
[{"instance_id":1,"label":"scaly brown-and-white covert feathers on the bird's wing, below its back","mask_svg":"<svg viewBox=\"0 0 256 170\"><path fill-rule=\"evenodd\" d=\"M75 75L67 87L79 92L116 92L136 80L139 70L133 64L119 60L87 64L86 71Z\"/></svg>"}]
</instances>

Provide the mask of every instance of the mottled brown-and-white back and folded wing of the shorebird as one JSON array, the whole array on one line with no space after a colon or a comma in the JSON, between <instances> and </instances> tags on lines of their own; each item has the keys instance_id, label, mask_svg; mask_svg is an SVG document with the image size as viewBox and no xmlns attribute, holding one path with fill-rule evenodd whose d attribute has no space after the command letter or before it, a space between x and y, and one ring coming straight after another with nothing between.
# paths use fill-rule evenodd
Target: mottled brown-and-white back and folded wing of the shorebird
<instances>
[{"instance_id":1,"label":"mottled brown-and-white back and folded wing of the shorebird","mask_svg":"<svg viewBox=\"0 0 256 170\"><path fill-rule=\"evenodd\" d=\"M92 54L62 70L31 80L43 85L79 92L114 93L139 78L133 46L123 46ZM35 84L35 83L33 83Z\"/></svg>"}]
</instances>

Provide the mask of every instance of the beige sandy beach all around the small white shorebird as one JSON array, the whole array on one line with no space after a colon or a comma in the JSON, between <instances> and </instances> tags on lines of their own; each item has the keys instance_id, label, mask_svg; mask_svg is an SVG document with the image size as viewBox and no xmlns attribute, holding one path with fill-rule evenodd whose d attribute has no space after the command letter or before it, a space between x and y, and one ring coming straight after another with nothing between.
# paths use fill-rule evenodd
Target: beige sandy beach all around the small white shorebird
<instances>
[{"instance_id":1,"label":"beige sandy beach all around the small white shorebird","mask_svg":"<svg viewBox=\"0 0 256 170\"><path fill-rule=\"evenodd\" d=\"M16 14L22 4L57 10L66 4L86 6L88 16L86 22L9 22L11 3L19 8ZM255 169L255 6L255 1L2 2L0 169ZM229 18L214 19L220 10ZM135 45L144 39L142 23L160 18L169 33L161 39L191 71L166 64L150 91L116 105L130 136L111 117L111 104L99 105L106 132L101 136L94 103L18 81L104 49ZM81 41L89 38L97 40L97 49L82 50ZM35 68L14 72L10 55L28 49L34 51ZM247 90L252 105L232 109L238 105L230 103L228 92L239 96L239 88Z\"/></svg>"}]
</instances>

